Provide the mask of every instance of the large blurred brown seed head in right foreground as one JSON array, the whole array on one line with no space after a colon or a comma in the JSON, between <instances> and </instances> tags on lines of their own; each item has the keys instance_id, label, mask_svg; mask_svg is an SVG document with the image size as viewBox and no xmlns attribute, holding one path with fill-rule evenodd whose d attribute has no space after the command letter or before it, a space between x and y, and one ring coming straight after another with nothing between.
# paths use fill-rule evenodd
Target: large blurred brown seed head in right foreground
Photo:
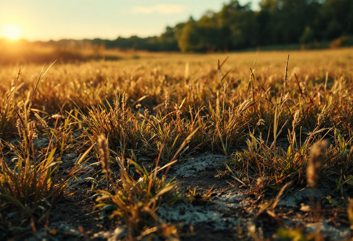
<instances>
[{"instance_id":1,"label":"large blurred brown seed head in right foreground","mask_svg":"<svg viewBox=\"0 0 353 241\"><path fill-rule=\"evenodd\" d=\"M306 179L309 187L314 188L317 184L321 166L326 159L325 150L328 142L325 140L314 143L310 149L310 157L306 168Z\"/></svg>"}]
</instances>

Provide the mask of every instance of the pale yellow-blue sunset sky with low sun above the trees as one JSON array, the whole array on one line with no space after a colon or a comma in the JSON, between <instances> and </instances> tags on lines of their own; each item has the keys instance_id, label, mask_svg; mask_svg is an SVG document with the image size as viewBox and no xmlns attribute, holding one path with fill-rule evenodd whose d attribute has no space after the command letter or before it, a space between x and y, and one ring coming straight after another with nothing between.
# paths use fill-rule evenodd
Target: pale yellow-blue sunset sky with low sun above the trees
<instances>
[{"instance_id":1,"label":"pale yellow-blue sunset sky with low sun above the trees","mask_svg":"<svg viewBox=\"0 0 353 241\"><path fill-rule=\"evenodd\" d=\"M260 0L239 1L259 10ZM0 38L9 31L29 41L156 36L190 16L218 12L225 2L229 0L0 0Z\"/></svg>"}]
</instances>

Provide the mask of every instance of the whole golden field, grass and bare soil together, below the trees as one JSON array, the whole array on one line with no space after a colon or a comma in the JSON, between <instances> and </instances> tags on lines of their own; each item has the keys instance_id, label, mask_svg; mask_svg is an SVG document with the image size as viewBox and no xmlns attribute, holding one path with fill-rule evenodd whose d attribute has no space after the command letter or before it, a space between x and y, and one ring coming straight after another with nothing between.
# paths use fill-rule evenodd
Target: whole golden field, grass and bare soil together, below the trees
<instances>
[{"instance_id":1,"label":"whole golden field, grass and bare soil together, below the trees","mask_svg":"<svg viewBox=\"0 0 353 241\"><path fill-rule=\"evenodd\" d=\"M108 59L0 67L1 240L352 238L353 48Z\"/></svg>"}]
</instances>

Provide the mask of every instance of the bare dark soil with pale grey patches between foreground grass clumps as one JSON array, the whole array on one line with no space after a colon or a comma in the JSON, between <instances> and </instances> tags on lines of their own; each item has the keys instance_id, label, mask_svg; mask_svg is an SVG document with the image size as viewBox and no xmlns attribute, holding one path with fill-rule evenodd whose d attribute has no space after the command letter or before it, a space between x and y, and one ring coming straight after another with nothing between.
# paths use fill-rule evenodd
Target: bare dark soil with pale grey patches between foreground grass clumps
<instances>
[{"instance_id":1,"label":"bare dark soil with pale grey patches between foreground grass clumps","mask_svg":"<svg viewBox=\"0 0 353 241\"><path fill-rule=\"evenodd\" d=\"M77 157L78 154L74 153L65 155L60 172L65 174ZM206 205L177 203L158 209L157 214L164 222L180 224L180 240L273 240L279 239L279 228L296 228L304 234L319 231L325 240L348 240L351 237L344 210L323 207L318 217L305 211L305 205L310 202L310 190L306 188L283 194L275 209L268 208L260 212L262 206L275 198L278 190L269 190L259 197L233 178L216 178L217 169L223 168L221 163L225 160L226 157L222 155L202 153L176 163L170 169L170 178L176 176L178 181L183 181L181 190L190 186L201 193L211 187L214 191ZM92 162L84 165L88 166ZM115 241L123 238L127 233L124 224L102 218L99 211L94 209L95 198L92 196L95 190L104 189L104 186L98 184L92 191L92 181L85 178L95 177L99 172L98 166L88 166L77 175L79 181L73 180L70 185L70 192L74 194L53 205L46 227L37 227L37 237L29 226L7 240ZM320 199L329 194L330 191L321 186L314 196Z\"/></svg>"}]
</instances>

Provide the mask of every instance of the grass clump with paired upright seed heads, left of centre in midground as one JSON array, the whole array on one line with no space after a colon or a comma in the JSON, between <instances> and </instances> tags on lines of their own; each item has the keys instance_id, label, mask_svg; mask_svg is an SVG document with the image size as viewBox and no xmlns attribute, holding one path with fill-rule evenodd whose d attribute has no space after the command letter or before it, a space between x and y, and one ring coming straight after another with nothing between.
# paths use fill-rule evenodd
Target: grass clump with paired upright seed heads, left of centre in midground
<instances>
[{"instance_id":1,"label":"grass clump with paired upright seed heads, left of centre in midground","mask_svg":"<svg viewBox=\"0 0 353 241\"><path fill-rule=\"evenodd\" d=\"M120 104L121 101L121 104ZM91 106L89 114L85 115L81 110L77 110L81 119L73 116L83 126L83 136L92 144L98 141L100 135L109 137L109 148L116 155L124 156L125 151L134 150L138 152L147 141L149 126L146 126L145 115L142 119L137 113L132 113L127 106L127 95L122 98L115 95L114 107L109 105L109 109L104 105ZM95 146L96 156L99 150Z\"/></svg>"}]
</instances>

